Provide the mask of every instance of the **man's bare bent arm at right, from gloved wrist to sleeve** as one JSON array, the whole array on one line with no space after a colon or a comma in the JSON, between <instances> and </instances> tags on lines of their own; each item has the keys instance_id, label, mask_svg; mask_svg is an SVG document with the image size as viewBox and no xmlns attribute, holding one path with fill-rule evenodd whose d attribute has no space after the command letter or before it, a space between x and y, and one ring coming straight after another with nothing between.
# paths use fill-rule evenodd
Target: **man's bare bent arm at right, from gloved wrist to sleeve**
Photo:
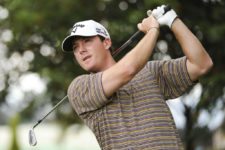
<instances>
[{"instance_id":1,"label":"man's bare bent arm at right, from gloved wrist to sleeve","mask_svg":"<svg viewBox=\"0 0 225 150\"><path fill-rule=\"evenodd\" d=\"M212 60L197 37L177 18L171 30L187 56L187 69L192 80L198 79L212 67Z\"/></svg>"}]
</instances>

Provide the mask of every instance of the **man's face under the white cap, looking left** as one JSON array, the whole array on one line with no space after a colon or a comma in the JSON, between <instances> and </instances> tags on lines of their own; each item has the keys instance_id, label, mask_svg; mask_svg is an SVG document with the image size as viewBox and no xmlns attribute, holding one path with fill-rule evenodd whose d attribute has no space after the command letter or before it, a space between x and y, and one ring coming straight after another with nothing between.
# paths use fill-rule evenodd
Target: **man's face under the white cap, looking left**
<instances>
[{"instance_id":1,"label":"man's face under the white cap, looking left","mask_svg":"<svg viewBox=\"0 0 225 150\"><path fill-rule=\"evenodd\" d=\"M108 45L98 36L78 37L73 42L73 53L80 66L88 72L99 72L104 68Z\"/></svg>"}]
</instances>

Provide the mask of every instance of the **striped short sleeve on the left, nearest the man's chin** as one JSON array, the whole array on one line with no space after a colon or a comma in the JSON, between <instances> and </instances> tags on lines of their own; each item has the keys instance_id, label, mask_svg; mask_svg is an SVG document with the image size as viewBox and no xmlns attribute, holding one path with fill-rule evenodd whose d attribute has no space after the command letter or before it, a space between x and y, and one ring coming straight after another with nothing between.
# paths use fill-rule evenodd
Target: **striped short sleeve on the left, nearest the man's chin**
<instances>
[{"instance_id":1,"label":"striped short sleeve on the left, nearest the man's chin","mask_svg":"<svg viewBox=\"0 0 225 150\"><path fill-rule=\"evenodd\" d=\"M79 115L96 110L108 102L103 91L101 77L101 72L81 75L71 82L68 88L68 97L72 107Z\"/></svg>"}]
</instances>

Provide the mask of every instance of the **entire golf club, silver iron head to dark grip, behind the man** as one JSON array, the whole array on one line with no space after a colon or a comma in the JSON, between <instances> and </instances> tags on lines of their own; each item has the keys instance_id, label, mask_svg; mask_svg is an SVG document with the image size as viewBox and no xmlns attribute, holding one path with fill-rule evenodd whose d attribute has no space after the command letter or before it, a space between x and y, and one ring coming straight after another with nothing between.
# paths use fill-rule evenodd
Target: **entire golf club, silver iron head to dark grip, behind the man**
<instances>
[{"instance_id":1,"label":"entire golf club, silver iron head to dark grip, behind the man","mask_svg":"<svg viewBox=\"0 0 225 150\"><path fill-rule=\"evenodd\" d=\"M165 6L164 7L164 14L167 11L169 11L170 9L171 9L170 6L168 6L168 5ZM150 15L150 14L148 13L148 15ZM141 35L141 31L135 32L122 46L120 46L117 50L115 50L112 53L112 56L114 57L114 56L118 55L122 50L124 50L128 45L130 45L134 41L134 39L137 38L139 35ZM34 128L36 126L38 126L52 111L54 111L67 98L68 98L68 96L66 95L42 119L38 120L37 123L32 127L32 129L29 130L28 138L29 138L29 144L31 146L35 146L37 144L37 139L36 139L36 136L35 136L35 133L34 133Z\"/></svg>"}]
</instances>

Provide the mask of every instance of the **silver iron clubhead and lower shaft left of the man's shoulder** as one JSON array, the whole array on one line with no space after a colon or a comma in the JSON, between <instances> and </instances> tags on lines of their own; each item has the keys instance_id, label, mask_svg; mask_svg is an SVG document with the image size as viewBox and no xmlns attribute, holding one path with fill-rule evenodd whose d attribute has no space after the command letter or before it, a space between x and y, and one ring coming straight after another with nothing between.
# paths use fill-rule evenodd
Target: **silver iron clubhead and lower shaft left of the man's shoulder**
<instances>
[{"instance_id":1,"label":"silver iron clubhead and lower shaft left of the man's shoulder","mask_svg":"<svg viewBox=\"0 0 225 150\"><path fill-rule=\"evenodd\" d=\"M64 100L66 100L68 96L66 95L63 99L61 99L42 119L38 120L37 123L33 126L32 129L29 130L29 144L31 146L35 146L37 144L37 139L34 133L34 128L38 126L52 111L54 111Z\"/></svg>"}]
</instances>

